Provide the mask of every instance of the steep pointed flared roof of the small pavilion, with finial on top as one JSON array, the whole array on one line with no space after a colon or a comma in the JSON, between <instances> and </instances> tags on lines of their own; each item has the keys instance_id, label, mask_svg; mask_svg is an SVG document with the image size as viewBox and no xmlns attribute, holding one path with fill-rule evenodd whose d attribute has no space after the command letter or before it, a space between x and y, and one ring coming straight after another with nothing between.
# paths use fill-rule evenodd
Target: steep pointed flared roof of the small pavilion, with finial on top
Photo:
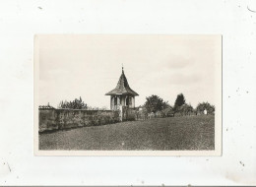
<instances>
[{"instance_id":1,"label":"steep pointed flared roof of the small pavilion, with finial on top","mask_svg":"<svg viewBox=\"0 0 256 187\"><path fill-rule=\"evenodd\" d=\"M109 93L105 94L105 95L115 95L115 94L132 94L134 96L137 96L139 94L135 93L128 84L128 81L124 75L124 71L122 68L122 74L119 78L119 81L117 83L117 86L115 87L114 90L110 91Z\"/></svg>"}]
</instances>

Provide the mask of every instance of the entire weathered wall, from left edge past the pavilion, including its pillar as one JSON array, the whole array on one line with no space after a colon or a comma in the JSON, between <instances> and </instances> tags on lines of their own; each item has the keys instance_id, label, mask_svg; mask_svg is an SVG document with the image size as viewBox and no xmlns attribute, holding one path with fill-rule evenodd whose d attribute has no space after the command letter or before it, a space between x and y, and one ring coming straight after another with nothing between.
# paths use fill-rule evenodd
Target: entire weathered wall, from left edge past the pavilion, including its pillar
<instances>
[{"instance_id":1,"label":"entire weathered wall, from left edge past the pavilion, including its pillar","mask_svg":"<svg viewBox=\"0 0 256 187\"><path fill-rule=\"evenodd\" d=\"M171 117L162 112L144 113L135 108L122 107L120 110L83 110L39 108L39 132L75 127L97 126L119 121L147 120L160 117Z\"/></svg>"}]
</instances>

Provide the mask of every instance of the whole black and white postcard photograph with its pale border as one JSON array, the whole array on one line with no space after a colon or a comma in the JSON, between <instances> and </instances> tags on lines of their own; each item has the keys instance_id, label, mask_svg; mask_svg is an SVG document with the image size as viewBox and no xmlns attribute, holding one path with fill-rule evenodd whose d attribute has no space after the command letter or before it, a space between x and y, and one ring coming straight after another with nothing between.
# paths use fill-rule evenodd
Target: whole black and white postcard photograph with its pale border
<instances>
[{"instance_id":1,"label":"whole black and white postcard photograph with its pale border","mask_svg":"<svg viewBox=\"0 0 256 187\"><path fill-rule=\"evenodd\" d=\"M222 35L45 34L34 45L39 152L221 154Z\"/></svg>"}]
</instances>

